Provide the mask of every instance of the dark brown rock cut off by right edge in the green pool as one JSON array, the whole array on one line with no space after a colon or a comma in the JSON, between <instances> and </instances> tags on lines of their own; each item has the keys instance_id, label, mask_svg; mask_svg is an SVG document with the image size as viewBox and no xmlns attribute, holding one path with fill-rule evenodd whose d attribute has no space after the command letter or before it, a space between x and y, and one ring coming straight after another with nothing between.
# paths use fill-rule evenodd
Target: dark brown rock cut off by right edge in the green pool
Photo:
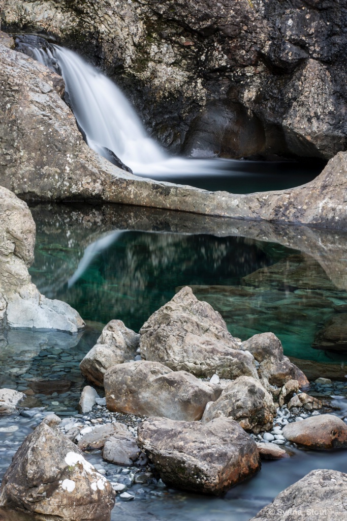
<instances>
[{"instance_id":1,"label":"dark brown rock cut off by right edge in the green pool","mask_svg":"<svg viewBox=\"0 0 347 521\"><path fill-rule=\"evenodd\" d=\"M313 349L347 352L347 313L332 317L315 336Z\"/></svg>"}]
</instances>

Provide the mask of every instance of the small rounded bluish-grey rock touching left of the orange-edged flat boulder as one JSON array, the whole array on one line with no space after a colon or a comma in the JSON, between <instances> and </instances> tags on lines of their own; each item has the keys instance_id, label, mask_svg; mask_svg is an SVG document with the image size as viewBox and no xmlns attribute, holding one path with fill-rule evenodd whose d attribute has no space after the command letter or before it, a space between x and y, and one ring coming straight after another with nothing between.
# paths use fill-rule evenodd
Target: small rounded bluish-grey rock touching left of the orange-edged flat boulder
<instances>
[{"instance_id":1,"label":"small rounded bluish-grey rock touching left of the orange-edged flat boulder","mask_svg":"<svg viewBox=\"0 0 347 521\"><path fill-rule=\"evenodd\" d=\"M134 436L128 431L114 434L105 441L102 458L116 465L133 465L137 460L140 449Z\"/></svg>"}]
</instances>

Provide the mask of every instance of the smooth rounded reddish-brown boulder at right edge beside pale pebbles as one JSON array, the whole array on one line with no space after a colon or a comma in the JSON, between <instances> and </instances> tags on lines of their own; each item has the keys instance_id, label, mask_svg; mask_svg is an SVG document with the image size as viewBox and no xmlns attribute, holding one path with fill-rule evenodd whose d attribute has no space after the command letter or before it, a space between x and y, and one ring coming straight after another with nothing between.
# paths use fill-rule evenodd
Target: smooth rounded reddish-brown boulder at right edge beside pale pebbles
<instances>
[{"instance_id":1,"label":"smooth rounded reddish-brown boulder at right edge beside pale pebbles","mask_svg":"<svg viewBox=\"0 0 347 521\"><path fill-rule=\"evenodd\" d=\"M283 429L287 440L308 449L339 449L347 447L347 425L337 416L322 414L295 421Z\"/></svg>"}]
</instances>

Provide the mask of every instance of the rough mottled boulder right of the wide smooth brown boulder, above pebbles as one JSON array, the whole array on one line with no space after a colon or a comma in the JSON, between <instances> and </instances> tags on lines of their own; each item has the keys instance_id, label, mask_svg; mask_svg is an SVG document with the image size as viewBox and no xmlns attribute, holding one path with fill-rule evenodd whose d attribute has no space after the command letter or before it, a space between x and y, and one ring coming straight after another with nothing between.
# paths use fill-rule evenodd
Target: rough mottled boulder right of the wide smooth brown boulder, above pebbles
<instances>
[{"instance_id":1,"label":"rough mottled boulder right of the wide smooth brown boulder, above pebbles","mask_svg":"<svg viewBox=\"0 0 347 521\"><path fill-rule=\"evenodd\" d=\"M276 407L272 396L260 381L240 376L224 389L218 400L207 405L202 421L226 416L243 429L258 433L273 427L274 415Z\"/></svg>"}]
</instances>

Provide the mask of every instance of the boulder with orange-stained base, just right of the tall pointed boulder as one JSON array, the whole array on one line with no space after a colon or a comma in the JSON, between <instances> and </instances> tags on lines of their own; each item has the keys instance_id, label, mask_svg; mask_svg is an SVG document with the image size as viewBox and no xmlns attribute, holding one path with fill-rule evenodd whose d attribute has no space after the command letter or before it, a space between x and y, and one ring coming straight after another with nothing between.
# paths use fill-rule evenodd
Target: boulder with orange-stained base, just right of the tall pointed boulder
<instances>
[{"instance_id":1,"label":"boulder with orange-stained base, just right of the tall pointed boulder","mask_svg":"<svg viewBox=\"0 0 347 521\"><path fill-rule=\"evenodd\" d=\"M284 356L282 344L274 333L255 334L242 342L242 349L252 353L260 364L260 378L266 378L269 383L282 386L288 380L298 380L300 387L309 385L303 372Z\"/></svg>"}]
</instances>

